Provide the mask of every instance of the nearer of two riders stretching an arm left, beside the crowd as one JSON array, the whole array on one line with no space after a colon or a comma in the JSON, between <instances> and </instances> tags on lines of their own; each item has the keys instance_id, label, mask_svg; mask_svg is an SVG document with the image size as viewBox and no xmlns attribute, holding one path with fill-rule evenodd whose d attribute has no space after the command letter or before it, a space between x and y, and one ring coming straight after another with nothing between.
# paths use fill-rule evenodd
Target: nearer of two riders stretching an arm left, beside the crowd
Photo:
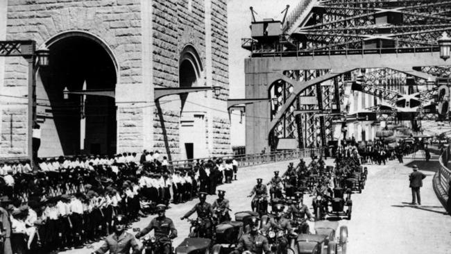
<instances>
[{"instance_id":1,"label":"nearer of two riders stretching an arm left, beside the crowd","mask_svg":"<svg viewBox=\"0 0 451 254\"><path fill-rule=\"evenodd\" d=\"M166 205L157 205L155 210L158 217L152 219L151 223L146 228L138 232L135 237L140 238L147 235L148 232L155 230L154 235L158 242L160 242L160 249L157 253L171 254L171 240L177 237L177 230L171 219L166 217ZM170 239L168 239L169 237Z\"/></svg>"}]
</instances>

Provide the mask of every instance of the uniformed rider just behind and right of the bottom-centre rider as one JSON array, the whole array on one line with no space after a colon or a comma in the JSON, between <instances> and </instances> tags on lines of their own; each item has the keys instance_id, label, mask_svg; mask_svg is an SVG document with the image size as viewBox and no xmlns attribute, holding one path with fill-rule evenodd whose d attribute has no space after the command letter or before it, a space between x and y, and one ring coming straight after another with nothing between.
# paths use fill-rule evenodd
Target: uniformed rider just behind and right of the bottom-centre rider
<instances>
[{"instance_id":1,"label":"uniformed rider just behind and right of the bottom-centre rider","mask_svg":"<svg viewBox=\"0 0 451 254\"><path fill-rule=\"evenodd\" d=\"M269 219L268 223L264 225L264 230L266 230L266 232L269 232L270 228L273 228L276 232L278 230L283 230L284 232L287 232L287 234L296 235L291 228L289 219L283 217L284 209L285 206L283 204L279 203L274 205L273 212L275 212L275 217ZM278 237L278 241L277 253L287 253L288 239L286 235Z\"/></svg>"}]
</instances>

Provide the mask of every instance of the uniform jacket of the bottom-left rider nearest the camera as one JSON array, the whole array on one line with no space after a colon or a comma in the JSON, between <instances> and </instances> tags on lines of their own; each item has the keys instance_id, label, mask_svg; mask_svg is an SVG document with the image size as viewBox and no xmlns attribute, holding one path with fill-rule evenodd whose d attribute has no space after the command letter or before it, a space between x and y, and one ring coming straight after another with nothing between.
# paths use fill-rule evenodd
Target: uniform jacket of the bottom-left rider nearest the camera
<instances>
[{"instance_id":1,"label":"uniform jacket of the bottom-left rider nearest the camera","mask_svg":"<svg viewBox=\"0 0 451 254\"><path fill-rule=\"evenodd\" d=\"M103 254L110 251L110 254L128 254L130 248L133 248L133 253L139 253L140 248L135 237L128 233L122 232L119 237L116 233L108 235L103 245L95 251L96 254Z\"/></svg>"}]
</instances>

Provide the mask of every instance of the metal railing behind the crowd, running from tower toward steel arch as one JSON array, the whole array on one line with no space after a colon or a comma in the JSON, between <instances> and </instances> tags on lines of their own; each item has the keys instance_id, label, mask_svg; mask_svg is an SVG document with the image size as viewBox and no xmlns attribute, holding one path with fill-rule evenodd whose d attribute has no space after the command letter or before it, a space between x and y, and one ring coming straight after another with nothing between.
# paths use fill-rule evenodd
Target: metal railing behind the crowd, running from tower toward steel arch
<instances>
[{"instance_id":1,"label":"metal railing behind the crowd, running from tower toward steel arch","mask_svg":"<svg viewBox=\"0 0 451 254\"><path fill-rule=\"evenodd\" d=\"M296 160L300 158L311 157L312 155L320 155L322 149L297 149L297 150L287 150L271 153L254 153L254 154L244 154L244 155L227 155L222 157L216 157L215 159L235 159L238 162L238 167L249 167L258 164L267 164L271 162L281 162L285 160ZM169 162L168 169L173 171L178 168L192 167L197 161L207 161L212 158L198 158L193 160L175 160Z\"/></svg>"}]
</instances>

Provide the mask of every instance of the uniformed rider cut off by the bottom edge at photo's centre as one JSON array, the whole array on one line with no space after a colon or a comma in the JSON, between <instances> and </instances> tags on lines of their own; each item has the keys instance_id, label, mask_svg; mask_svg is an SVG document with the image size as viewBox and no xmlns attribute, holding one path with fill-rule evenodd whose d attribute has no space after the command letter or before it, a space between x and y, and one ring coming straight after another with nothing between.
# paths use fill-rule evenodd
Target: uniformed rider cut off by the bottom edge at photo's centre
<instances>
[{"instance_id":1,"label":"uniformed rider cut off by the bottom edge at photo's centre","mask_svg":"<svg viewBox=\"0 0 451 254\"><path fill-rule=\"evenodd\" d=\"M249 226L251 227L250 232L239 238L237 248L230 254L241 254L244 251L250 251L253 254L262 254L264 251L265 254L271 254L268 239L258 231L259 218L252 217Z\"/></svg>"}]
</instances>

